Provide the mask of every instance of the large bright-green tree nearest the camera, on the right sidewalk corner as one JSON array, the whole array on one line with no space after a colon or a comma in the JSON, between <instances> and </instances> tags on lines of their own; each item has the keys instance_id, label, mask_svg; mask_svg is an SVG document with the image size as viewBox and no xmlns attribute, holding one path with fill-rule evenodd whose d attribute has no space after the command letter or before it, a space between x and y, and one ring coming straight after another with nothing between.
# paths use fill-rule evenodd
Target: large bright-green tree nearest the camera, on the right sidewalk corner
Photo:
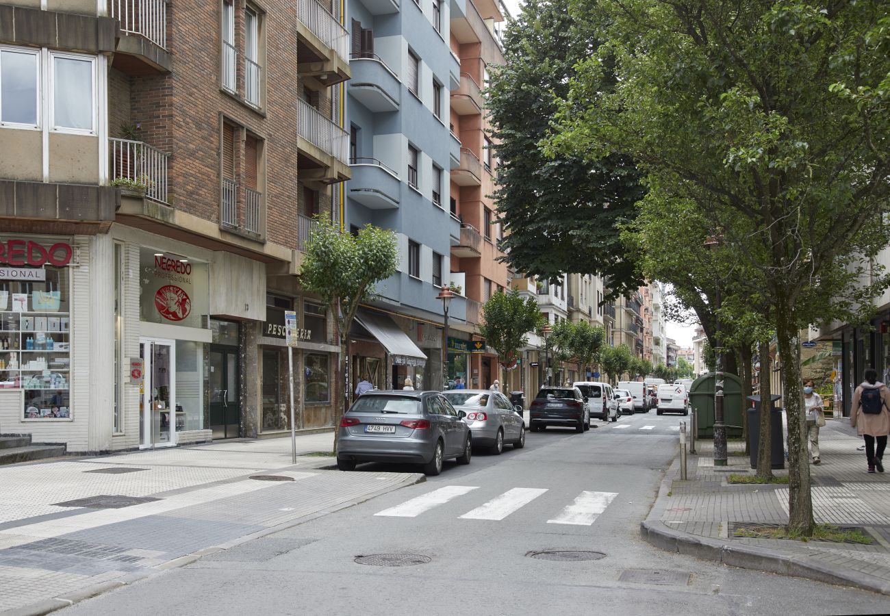
<instances>
[{"instance_id":1,"label":"large bright-green tree nearest the camera, on the right sidewalk corner","mask_svg":"<svg viewBox=\"0 0 890 616\"><path fill-rule=\"evenodd\" d=\"M551 148L633 158L650 193L695 204L746 264L735 284L763 285L788 393L789 526L808 536L798 331L862 318L886 285L870 263L890 197L886 2L575 0L570 12L608 45L578 65Z\"/></svg>"}]
</instances>

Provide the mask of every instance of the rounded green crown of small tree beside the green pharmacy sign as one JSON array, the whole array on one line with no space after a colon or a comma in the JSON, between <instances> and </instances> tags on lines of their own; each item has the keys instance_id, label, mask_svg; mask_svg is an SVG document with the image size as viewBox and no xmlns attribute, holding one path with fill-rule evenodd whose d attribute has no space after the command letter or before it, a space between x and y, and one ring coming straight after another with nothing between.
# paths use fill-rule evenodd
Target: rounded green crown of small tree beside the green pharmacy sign
<instances>
[{"instance_id":1,"label":"rounded green crown of small tree beside the green pharmacy sign","mask_svg":"<svg viewBox=\"0 0 890 616\"><path fill-rule=\"evenodd\" d=\"M534 297L522 299L519 291L498 291L482 306L479 333L498 350L498 360L509 363L529 343L528 334L544 321Z\"/></svg>"}]
</instances>

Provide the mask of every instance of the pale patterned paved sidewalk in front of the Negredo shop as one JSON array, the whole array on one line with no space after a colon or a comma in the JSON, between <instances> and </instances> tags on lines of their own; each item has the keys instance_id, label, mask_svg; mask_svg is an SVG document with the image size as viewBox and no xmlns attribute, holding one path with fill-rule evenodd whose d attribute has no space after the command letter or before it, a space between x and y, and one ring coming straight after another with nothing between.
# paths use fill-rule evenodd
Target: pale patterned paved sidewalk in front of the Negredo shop
<instances>
[{"instance_id":1,"label":"pale patterned paved sidewalk in front of the Negredo shop","mask_svg":"<svg viewBox=\"0 0 890 616\"><path fill-rule=\"evenodd\" d=\"M332 444L298 436L297 452ZM0 466L0 612L52 612L425 480L333 462L291 464L279 438Z\"/></svg>"}]
</instances>

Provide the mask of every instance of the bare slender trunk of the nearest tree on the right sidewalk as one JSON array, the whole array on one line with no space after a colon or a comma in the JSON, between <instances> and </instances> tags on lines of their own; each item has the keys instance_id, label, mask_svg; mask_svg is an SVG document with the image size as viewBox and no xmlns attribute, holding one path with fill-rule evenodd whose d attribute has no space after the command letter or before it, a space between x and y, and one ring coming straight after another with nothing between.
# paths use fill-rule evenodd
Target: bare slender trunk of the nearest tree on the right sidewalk
<instances>
[{"instance_id":1,"label":"bare slender trunk of the nearest tree on the right sidewalk","mask_svg":"<svg viewBox=\"0 0 890 616\"><path fill-rule=\"evenodd\" d=\"M789 529L799 532L804 537L812 537L813 495L810 493L810 460L805 439L800 336L794 308L781 296L777 296L776 300L776 338L779 345L784 406L788 413Z\"/></svg>"}]
</instances>

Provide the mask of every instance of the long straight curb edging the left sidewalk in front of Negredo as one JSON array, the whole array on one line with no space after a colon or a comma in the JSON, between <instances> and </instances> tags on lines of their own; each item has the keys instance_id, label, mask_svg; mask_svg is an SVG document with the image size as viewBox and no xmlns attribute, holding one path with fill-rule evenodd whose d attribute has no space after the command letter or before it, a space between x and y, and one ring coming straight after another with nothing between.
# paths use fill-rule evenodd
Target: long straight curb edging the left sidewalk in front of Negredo
<instances>
[{"instance_id":1,"label":"long straight curb edging the left sidewalk in front of Negredo","mask_svg":"<svg viewBox=\"0 0 890 616\"><path fill-rule=\"evenodd\" d=\"M303 466L305 468L305 466ZM323 467L322 467L323 468ZM336 466L335 466L336 468ZM278 469L282 470L282 469ZM407 488L411 485L417 485L417 483L423 483L426 481L426 475L420 473L413 473L411 476L406 477L403 481L399 482L396 485L387 486L385 488L381 488L380 490L375 490L373 492L369 492L368 494L362 495L360 498L355 498L354 500L344 501L342 503L338 503L333 507L326 507L324 509L320 509L318 511L312 512L311 514L303 515L301 517L295 518L294 520L289 520L286 523L280 523L275 526L271 526L269 528L265 528L262 531L252 532L243 537L239 537L238 539L231 539L230 541L226 541L224 543L218 544L216 546L204 547L199 549L196 552L192 552L191 554L180 556L179 558L175 558L172 561L168 561L166 563L158 564L155 567L152 567L149 571L140 571L137 573L131 573L129 575L122 576L118 580L110 580L99 582L96 584L92 584L90 586L86 586L81 588L75 592L63 594L60 596L53 597L52 599L42 599L33 604L24 605L19 608L13 608L12 610L7 610L5 612L0 612L3 616L42 616L43 614L48 614L51 612L56 612L61 610L62 608L69 607L70 605L74 605L84 601L85 599L93 598L94 596L99 596L103 593L108 592L109 590L116 590L117 588L124 588L126 586L132 585L135 582L140 580L146 580L148 578L155 577L164 573L165 571L169 571L171 569L178 569L180 567L184 567L191 563L195 563L200 560L202 557L206 555L216 554L218 552L223 552L231 547L236 547L241 544L247 543L247 541L252 541L254 539L259 539L261 537L265 537L267 535L274 534L279 531L286 531L289 528L293 528L295 526L299 526L300 524L312 522L312 520L318 519L325 515L330 515L340 511L342 509L346 509L349 507L355 507L360 503L370 500L371 498L376 498L378 496L382 496L388 492L392 492L395 490L401 490L402 488Z\"/></svg>"}]
</instances>

